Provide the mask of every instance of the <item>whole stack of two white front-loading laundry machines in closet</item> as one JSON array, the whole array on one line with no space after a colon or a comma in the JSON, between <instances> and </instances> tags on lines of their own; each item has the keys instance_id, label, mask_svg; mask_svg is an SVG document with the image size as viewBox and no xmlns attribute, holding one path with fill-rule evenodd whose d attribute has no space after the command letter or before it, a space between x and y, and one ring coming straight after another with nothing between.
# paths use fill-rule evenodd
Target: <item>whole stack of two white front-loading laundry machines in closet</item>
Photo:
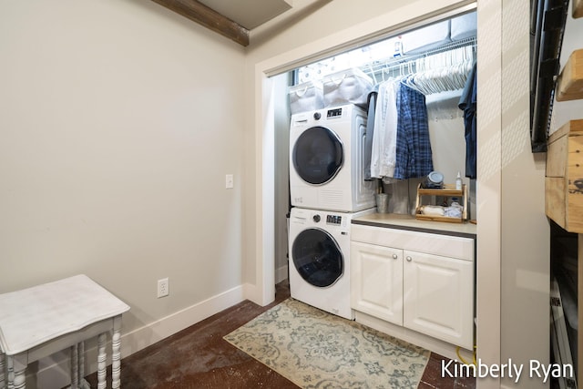
<instances>
[{"instance_id":1,"label":"whole stack of two white front-loading laundry machines in closet","mask_svg":"<svg viewBox=\"0 0 583 389\"><path fill-rule=\"evenodd\" d=\"M354 104L292 115L289 225L292 298L353 320L350 226L374 211L364 180L366 112Z\"/></svg>"}]
</instances>

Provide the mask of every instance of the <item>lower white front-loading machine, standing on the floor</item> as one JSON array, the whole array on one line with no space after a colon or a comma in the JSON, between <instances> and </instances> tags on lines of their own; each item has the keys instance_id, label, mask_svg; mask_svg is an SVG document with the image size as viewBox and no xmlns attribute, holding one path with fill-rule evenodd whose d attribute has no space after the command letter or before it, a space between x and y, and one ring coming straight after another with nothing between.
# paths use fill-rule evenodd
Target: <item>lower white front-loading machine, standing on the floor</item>
<instances>
[{"instance_id":1,"label":"lower white front-loading machine, standing on the floor","mask_svg":"<svg viewBox=\"0 0 583 389\"><path fill-rule=\"evenodd\" d=\"M289 269L293 299L354 319L350 306L351 220L373 211L292 208Z\"/></svg>"}]
</instances>

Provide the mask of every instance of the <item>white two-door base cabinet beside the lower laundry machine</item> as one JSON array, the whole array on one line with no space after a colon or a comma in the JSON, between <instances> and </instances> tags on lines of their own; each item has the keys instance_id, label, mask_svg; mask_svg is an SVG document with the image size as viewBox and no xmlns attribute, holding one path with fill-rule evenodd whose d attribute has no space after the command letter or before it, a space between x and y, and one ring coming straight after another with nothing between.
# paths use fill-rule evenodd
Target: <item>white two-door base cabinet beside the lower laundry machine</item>
<instances>
[{"instance_id":1,"label":"white two-door base cabinet beside the lower laundry machine","mask_svg":"<svg viewBox=\"0 0 583 389\"><path fill-rule=\"evenodd\" d=\"M473 239L363 225L351 233L355 311L473 349Z\"/></svg>"}]
</instances>

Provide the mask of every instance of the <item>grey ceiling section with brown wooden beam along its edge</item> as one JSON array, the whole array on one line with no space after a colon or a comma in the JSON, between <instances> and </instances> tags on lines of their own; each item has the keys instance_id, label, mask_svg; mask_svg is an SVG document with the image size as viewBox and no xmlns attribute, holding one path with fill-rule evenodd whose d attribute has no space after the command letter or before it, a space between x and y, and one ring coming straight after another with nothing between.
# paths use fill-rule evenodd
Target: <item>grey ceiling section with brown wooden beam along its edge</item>
<instances>
[{"instance_id":1,"label":"grey ceiling section with brown wooden beam along its edge","mask_svg":"<svg viewBox=\"0 0 583 389\"><path fill-rule=\"evenodd\" d=\"M290 15L306 5L321 0L302 0L301 6L292 7L298 0L152 0L169 10L230 38L242 46L249 45L249 32L271 19ZM328 0L330 1L330 0Z\"/></svg>"}]
</instances>

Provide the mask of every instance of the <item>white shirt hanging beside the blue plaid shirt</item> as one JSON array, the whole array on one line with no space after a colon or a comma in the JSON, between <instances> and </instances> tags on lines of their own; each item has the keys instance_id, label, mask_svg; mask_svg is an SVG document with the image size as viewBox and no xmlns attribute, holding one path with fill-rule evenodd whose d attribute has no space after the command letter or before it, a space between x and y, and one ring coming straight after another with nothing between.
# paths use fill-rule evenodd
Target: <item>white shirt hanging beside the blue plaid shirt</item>
<instances>
[{"instance_id":1,"label":"white shirt hanging beside the blue plaid shirt","mask_svg":"<svg viewBox=\"0 0 583 389\"><path fill-rule=\"evenodd\" d=\"M384 81L378 85L371 152L371 178L394 176L396 162L397 108L399 82Z\"/></svg>"}]
</instances>

